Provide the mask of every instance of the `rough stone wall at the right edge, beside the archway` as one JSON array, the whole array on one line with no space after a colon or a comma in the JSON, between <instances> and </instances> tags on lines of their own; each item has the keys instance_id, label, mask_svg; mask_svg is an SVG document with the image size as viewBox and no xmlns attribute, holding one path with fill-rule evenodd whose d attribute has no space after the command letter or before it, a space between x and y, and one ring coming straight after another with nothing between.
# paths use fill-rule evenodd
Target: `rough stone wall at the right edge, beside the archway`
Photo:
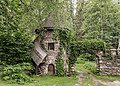
<instances>
[{"instance_id":1,"label":"rough stone wall at the right edge, beside the archway","mask_svg":"<svg viewBox=\"0 0 120 86\"><path fill-rule=\"evenodd\" d=\"M97 70L101 75L120 75L120 54L110 50L112 59L107 59L103 52L97 53Z\"/></svg>"}]
</instances>

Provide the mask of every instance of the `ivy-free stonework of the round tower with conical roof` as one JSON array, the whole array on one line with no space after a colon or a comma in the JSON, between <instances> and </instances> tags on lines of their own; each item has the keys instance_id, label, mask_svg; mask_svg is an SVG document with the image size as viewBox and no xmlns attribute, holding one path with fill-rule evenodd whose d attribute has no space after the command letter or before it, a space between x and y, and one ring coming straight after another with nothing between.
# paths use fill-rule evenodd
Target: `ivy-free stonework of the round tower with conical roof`
<instances>
[{"instance_id":1,"label":"ivy-free stonework of the round tower with conical roof","mask_svg":"<svg viewBox=\"0 0 120 86\"><path fill-rule=\"evenodd\" d=\"M53 75L56 72L56 60L59 52L59 40L53 40L54 21L50 15L43 24L45 37L40 41L40 37L34 40L34 48L32 49L32 59L36 74ZM42 47L44 46L44 48ZM64 69L68 71L67 54L63 49Z\"/></svg>"}]
</instances>

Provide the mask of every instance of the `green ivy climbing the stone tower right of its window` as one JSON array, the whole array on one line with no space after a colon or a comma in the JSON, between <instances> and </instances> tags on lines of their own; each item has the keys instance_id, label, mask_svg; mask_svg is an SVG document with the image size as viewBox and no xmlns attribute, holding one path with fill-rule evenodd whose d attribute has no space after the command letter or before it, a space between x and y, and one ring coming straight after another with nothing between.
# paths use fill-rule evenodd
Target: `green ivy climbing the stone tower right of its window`
<instances>
[{"instance_id":1,"label":"green ivy climbing the stone tower right of its window","mask_svg":"<svg viewBox=\"0 0 120 86\"><path fill-rule=\"evenodd\" d=\"M54 39L59 40L60 47L59 47L59 53L58 58L56 61L56 75L57 76L64 76L64 62L63 62L63 48L69 52L69 43L70 43L70 33L69 29L67 28L57 28L54 30Z\"/></svg>"}]
</instances>

